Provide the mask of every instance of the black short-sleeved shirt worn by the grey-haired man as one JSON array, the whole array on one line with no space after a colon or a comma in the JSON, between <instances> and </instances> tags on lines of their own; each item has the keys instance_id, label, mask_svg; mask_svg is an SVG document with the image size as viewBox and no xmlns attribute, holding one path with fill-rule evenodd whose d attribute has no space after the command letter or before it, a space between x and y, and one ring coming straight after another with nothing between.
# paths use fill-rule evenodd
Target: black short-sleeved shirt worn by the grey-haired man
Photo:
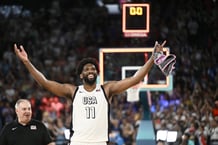
<instances>
[{"instance_id":1,"label":"black short-sleeved shirt worn by the grey-haired man","mask_svg":"<svg viewBox=\"0 0 218 145\"><path fill-rule=\"evenodd\" d=\"M51 142L45 125L34 119L27 125L15 120L7 124L0 134L0 145L47 145Z\"/></svg>"}]
</instances>

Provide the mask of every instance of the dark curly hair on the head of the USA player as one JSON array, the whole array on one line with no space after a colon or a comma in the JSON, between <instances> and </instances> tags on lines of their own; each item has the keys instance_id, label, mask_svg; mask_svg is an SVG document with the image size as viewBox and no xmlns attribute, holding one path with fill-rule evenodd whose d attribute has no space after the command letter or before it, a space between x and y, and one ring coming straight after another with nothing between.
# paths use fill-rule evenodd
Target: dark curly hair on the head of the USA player
<instances>
[{"instance_id":1,"label":"dark curly hair on the head of the USA player","mask_svg":"<svg viewBox=\"0 0 218 145\"><path fill-rule=\"evenodd\" d=\"M93 64L95 66L97 72L99 73L98 61L95 58L88 57L88 58L82 59L79 62L78 67L77 67L77 75L80 75L82 73L83 67L88 63Z\"/></svg>"}]
</instances>

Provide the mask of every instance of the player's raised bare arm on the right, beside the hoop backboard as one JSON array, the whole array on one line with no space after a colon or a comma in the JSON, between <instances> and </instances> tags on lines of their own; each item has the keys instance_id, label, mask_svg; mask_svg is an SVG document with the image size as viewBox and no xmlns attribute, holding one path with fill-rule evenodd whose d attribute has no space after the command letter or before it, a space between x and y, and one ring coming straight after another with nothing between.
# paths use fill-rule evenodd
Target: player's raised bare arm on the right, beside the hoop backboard
<instances>
[{"instance_id":1,"label":"player's raised bare arm on the right, beside the hoop backboard","mask_svg":"<svg viewBox=\"0 0 218 145\"><path fill-rule=\"evenodd\" d=\"M165 45L166 41L162 44L159 44L157 41L155 42L154 52L163 51L163 46ZM151 67L154 64L154 56L148 59L148 61L134 74L132 77L125 78L120 81L112 81L104 84L106 92L109 96L113 96L114 94L121 93L126 89L138 84L141 80L144 79L145 75L150 71Z\"/></svg>"}]
</instances>

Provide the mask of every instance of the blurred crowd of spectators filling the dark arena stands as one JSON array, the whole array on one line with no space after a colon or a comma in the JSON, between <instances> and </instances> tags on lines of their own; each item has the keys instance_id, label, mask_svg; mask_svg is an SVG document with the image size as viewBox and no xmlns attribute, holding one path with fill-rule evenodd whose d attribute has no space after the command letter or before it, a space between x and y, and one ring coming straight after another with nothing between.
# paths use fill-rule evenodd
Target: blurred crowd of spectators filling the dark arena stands
<instances>
[{"instance_id":1,"label":"blurred crowd of spectators filling the dark arena stands","mask_svg":"<svg viewBox=\"0 0 218 145\"><path fill-rule=\"evenodd\" d=\"M98 59L101 47L153 47L156 40L167 40L177 56L174 88L151 92L155 130L177 131L173 145L218 144L218 2L141 2L151 4L146 38L124 38L121 16L110 15L104 6L70 8L53 0L34 11L1 9L0 130L15 119L18 98L31 100L33 117L46 124L57 145L65 143L63 132L70 128L71 100L40 88L14 55L14 43L24 45L49 79L78 84L77 63L87 56ZM115 64L110 65L116 72ZM127 102L126 97L126 93L117 95L111 105L110 138L117 145L135 144L143 115L140 102Z\"/></svg>"}]
</instances>

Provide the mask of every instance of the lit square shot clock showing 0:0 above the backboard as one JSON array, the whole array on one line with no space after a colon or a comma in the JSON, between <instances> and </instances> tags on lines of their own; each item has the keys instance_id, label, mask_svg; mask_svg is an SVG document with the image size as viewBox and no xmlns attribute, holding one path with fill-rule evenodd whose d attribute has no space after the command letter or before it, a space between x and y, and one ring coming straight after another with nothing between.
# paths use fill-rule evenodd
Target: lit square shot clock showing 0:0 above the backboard
<instances>
[{"instance_id":1,"label":"lit square shot clock showing 0:0 above the backboard","mask_svg":"<svg viewBox=\"0 0 218 145\"><path fill-rule=\"evenodd\" d=\"M123 4L122 31L124 37L147 37L150 31L150 5Z\"/></svg>"}]
</instances>

